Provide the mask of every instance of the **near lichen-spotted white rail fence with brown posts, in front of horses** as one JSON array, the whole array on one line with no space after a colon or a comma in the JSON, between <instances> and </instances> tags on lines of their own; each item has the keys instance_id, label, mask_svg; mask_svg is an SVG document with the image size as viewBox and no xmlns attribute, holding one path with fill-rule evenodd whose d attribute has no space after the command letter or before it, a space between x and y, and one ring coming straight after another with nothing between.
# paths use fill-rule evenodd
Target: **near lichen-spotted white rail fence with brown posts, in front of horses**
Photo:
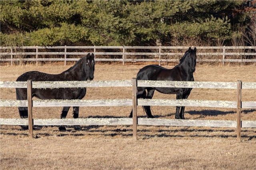
<instances>
[{"instance_id":1,"label":"near lichen-spotted white rail fence with brown posts, in front of horses","mask_svg":"<svg viewBox=\"0 0 256 170\"><path fill-rule=\"evenodd\" d=\"M170 100L170 99L137 99L137 87L182 87L182 88L214 88L237 89L237 101L205 101L205 100ZM132 99L101 100L34 100L31 98L32 88L70 88L70 87L133 87ZM236 83L224 82L191 82L191 81L45 81L15 82L0 81L0 88L27 88L28 100L0 100L0 107L28 107L28 119L3 119L0 125L28 125L29 136L33 137L33 125L133 125L133 136L137 139L137 125L164 126L198 126L198 127L236 127L237 139L241 139L241 127L256 127L256 121L241 121L241 109L256 109L256 101L241 101L242 89L256 89L256 82ZM138 105L192 106L192 107L225 107L237 108L236 121L214 120L176 120L137 118ZM133 118L87 118L87 119L32 119L32 107L63 106L132 106Z\"/></svg>"}]
</instances>

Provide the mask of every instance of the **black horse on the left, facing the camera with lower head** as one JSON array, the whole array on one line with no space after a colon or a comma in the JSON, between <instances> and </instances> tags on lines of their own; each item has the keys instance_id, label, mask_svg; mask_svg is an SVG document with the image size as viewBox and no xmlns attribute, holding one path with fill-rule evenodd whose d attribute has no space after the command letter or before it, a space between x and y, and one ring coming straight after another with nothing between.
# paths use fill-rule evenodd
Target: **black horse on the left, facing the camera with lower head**
<instances>
[{"instance_id":1,"label":"black horse on the left, facing the camera with lower head","mask_svg":"<svg viewBox=\"0 0 256 170\"><path fill-rule=\"evenodd\" d=\"M75 63L73 67L60 74L47 74L39 71L26 72L16 81L86 81L94 78L94 54L82 57ZM39 99L82 99L85 96L86 88L59 88L59 89L32 89L32 97L38 97ZM16 88L16 99L26 100L27 89ZM66 118L70 107L63 107L61 119ZM79 107L73 107L73 117L78 118ZM20 118L28 117L28 107L18 107ZM23 129L27 129L27 126L22 126ZM80 126L74 126L76 130L81 129ZM60 131L65 131L64 126L59 127Z\"/></svg>"}]
</instances>

